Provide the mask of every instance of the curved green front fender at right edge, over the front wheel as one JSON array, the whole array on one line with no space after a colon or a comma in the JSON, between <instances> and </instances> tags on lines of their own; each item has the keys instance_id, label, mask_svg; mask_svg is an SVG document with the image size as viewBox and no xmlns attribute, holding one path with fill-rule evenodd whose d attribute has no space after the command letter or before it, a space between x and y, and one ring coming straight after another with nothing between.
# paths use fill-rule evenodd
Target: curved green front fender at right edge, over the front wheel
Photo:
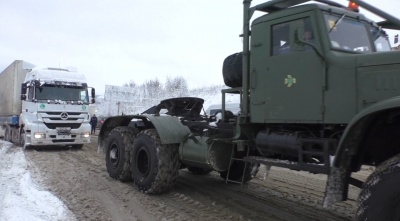
<instances>
[{"instance_id":1,"label":"curved green front fender at right edge, over the front wheel","mask_svg":"<svg viewBox=\"0 0 400 221\"><path fill-rule=\"evenodd\" d=\"M368 129L380 116L400 116L400 97L393 97L365 108L347 125L328 177L324 207L347 199L351 172L359 169L362 153L366 151L362 141L367 136Z\"/></svg>"}]
</instances>

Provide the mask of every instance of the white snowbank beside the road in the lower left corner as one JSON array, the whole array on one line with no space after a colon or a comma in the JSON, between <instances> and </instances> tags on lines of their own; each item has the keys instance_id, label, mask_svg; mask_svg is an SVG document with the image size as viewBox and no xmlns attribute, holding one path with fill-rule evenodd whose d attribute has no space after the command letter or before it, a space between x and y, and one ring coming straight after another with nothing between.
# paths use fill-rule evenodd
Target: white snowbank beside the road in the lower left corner
<instances>
[{"instance_id":1,"label":"white snowbank beside the road in the lower left corner","mask_svg":"<svg viewBox=\"0 0 400 221\"><path fill-rule=\"evenodd\" d=\"M76 220L63 202L31 179L20 147L0 140L0 221Z\"/></svg>"}]
</instances>

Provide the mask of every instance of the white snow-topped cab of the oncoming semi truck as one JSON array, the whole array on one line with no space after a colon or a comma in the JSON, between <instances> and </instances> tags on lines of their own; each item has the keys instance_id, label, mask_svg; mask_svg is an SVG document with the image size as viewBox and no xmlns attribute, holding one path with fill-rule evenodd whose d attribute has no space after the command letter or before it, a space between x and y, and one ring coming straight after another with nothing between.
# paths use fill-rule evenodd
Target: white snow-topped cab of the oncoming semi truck
<instances>
[{"instance_id":1,"label":"white snow-topped cab of the oncoming semi truck","mask_svg":"<svg viewBox=\"0 0 400 221\"><path fill-rule=\"evenodd\" d=\"M81 148L90 142L90 101L84 75L68 69L34 69L27 73L21 92L22 146ZM94 93L92 89L92 97Z\"/></svg>"}]
</instances>

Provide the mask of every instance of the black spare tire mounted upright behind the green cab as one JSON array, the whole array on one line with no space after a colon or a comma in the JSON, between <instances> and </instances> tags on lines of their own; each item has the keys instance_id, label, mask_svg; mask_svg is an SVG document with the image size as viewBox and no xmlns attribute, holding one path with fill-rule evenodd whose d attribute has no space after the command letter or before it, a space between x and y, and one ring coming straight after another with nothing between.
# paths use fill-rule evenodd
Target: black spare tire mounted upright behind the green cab
<instances>
[{"instance_id":1,"label":"black spare tire mounted upright behind the green cab","mask_svg":"<svg viewBox=\"0 0 400 221\"><path fill-rule=\"evenodd\" d=\"M222 67L222 75L224 77L225 85L228 87L241 87L242 86L242 67L243 67L243 53L235 53L224 60Z\"/></svg>"}]
</instances>

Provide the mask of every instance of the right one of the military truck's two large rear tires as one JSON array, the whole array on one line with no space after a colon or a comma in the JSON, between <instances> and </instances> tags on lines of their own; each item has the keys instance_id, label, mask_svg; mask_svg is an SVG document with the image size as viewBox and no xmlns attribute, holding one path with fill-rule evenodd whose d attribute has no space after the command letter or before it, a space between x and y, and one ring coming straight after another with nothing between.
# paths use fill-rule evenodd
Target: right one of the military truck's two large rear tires
<instances>
[{"instance_id":1,"label":"right one of the military truck's two large rear tires","mask_svg":"<svg viewBox=\"0 0 400 221\"><path fill-rule=\"evenodd\" d=\"M177 144L161 144L154 129L138 134L131 152L131 170L140 191L162 194L172 189L179 175L178 148Z\"/></svg>"}]
</instances>

